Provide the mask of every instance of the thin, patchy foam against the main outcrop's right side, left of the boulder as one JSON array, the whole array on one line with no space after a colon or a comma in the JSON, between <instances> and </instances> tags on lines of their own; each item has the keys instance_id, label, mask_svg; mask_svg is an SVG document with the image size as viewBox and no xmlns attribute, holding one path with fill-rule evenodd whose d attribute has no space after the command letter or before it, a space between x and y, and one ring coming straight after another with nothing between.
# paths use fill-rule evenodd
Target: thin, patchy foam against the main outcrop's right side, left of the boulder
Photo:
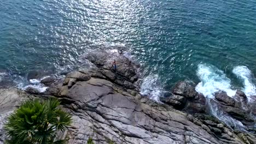
<instances>
[{"instance_id":1,"label":"thin, patchy foam against the main outcrop's right side, left of the boulder","mask_svg":"<svg viewBox=\"0 0 256 144\"><path fill-rule=\"evenodd\" d=\"M158 75L144 77L141 84L141 94L149 95L150 99L160 101L160 97L164 94L164 90L159 85Z\"/></svg>"}]
</instances>

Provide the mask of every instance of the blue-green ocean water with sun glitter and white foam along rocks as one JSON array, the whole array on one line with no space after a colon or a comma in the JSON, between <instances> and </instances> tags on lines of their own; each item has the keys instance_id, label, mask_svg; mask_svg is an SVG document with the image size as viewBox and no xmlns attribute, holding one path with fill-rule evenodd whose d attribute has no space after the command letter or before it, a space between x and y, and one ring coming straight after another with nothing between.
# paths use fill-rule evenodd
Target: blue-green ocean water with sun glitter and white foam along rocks
<instances>
[{"instance_id":1,"label":"blue-green ocean water with sun glitter and white foam along rocks","mask_svg":"<svg viewBox=\"0 0 256 144\"><path fill-rule=\"evenodd\" d=\"M32 70L61 74L84 52L126 47L155 100L180 80L209 98L219 89L254 95L255 15L254 0L1 1L0 81L37 87Z\"/></svg>"}]
</instances>

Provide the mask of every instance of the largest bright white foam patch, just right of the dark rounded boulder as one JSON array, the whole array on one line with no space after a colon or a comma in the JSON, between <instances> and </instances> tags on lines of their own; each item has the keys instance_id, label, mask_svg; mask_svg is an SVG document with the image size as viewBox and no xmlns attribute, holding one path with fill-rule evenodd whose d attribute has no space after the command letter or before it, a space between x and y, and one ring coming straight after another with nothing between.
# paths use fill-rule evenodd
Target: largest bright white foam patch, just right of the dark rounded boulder
<instances>
[{"instance_id":1,"label":"largest bright white foam patch, just right of the dark rounded boulder","mask_svg":"<svg viewBox=\"0 0 256 144\"><path fill-rule=\"evenodd\" d=\"M196 91L207 98L214 98L214 93L218 91L226 92L229 97L234 96L236 93L230 88L230 79L226 77L223 71L212 65L199 64L197 76L201 82L196 86Z\"/></svg>"}]
</instances>

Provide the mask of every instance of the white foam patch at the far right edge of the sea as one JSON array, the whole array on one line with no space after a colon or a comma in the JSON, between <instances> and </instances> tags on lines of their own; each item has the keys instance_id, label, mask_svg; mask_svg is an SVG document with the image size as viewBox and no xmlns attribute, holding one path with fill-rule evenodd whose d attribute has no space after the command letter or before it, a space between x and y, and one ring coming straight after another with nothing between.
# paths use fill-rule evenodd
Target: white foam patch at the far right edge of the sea
<instances>
[{"instance_id":1,"label":"white foam patch at the far right edge of the sea","mask_svg":"<svg viewBox=\"0 0 256 144\"><path fill-rule=\"evenodd\" d=\"M251 70L246 66L237 66L232 72L243 81L243 92L249 98L251 95L256 95L255 85L252 83L253 75Z\"/></svg>"}]
</instances>

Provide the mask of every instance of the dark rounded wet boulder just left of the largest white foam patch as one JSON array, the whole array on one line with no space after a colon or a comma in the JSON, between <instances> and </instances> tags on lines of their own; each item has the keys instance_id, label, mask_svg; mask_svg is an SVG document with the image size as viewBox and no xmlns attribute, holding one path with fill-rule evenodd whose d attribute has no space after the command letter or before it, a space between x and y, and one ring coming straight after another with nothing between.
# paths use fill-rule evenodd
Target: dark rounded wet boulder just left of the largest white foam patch
<instances>
[{"instance_id":1,"label":"dark rounded wet boulder just left of the largest white foam patch","mask_svg":"<svg viewBox=\"0 0 256 144\"><path fill-rule=\"evenodd\" d=\"M172 93L186 98L195 98L198 95L198 93L195 91L195 87L189 85L187 81L178 82L174 86Z\"/></svg>"}]
</instances>

